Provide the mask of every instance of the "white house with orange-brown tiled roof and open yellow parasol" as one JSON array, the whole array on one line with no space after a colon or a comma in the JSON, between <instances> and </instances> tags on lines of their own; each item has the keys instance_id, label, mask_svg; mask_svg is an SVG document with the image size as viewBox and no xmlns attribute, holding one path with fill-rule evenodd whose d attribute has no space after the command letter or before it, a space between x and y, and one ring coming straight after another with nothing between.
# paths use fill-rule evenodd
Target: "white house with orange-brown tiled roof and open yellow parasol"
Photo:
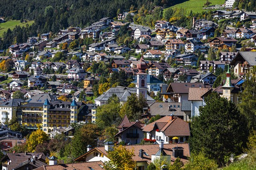
<instances>
[{"instance_id":1,"label":"white house with orange-brown tiled roof and open yellow parasol","mask_svg":"<svg viewBox=\"0 0 256 170\"><path fill-rule=\"evenodd\" d=\"M189 123L173 115L167 115L143 127L147 139L164 141L164 144L183 143L190 136ZM177 138L175 138L177 137Z\"/></svg>"}]
</instances>

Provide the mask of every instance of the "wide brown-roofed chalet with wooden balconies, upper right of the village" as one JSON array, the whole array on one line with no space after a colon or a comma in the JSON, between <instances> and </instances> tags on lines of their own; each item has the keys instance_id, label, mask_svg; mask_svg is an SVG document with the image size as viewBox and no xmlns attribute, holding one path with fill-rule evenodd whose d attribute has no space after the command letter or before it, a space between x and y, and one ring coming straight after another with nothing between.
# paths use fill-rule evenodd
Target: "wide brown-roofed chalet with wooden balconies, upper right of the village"
<instances>
[{"instance_id":1,"label":"wide brown-roofed chalet with wooden balconies, upper right of the village","mask_svg":"<svg viewBox=\"0 0 256 170\"><path fill-rule=\"evenodd\" d=\"M237 40L232 37L215 37L212 40L209 40L208 43L210 47L216 49L230 49L230 46L236 46Z\"/></svg>"}]
</instances>

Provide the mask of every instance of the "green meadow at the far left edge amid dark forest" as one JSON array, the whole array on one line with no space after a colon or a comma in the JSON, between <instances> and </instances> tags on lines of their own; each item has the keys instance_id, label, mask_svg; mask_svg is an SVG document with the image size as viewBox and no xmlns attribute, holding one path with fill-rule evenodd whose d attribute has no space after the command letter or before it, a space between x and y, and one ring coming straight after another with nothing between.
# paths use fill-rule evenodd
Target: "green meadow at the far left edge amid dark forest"
<instances>
[{"instance_id":1,"label":"green meadow at the far left edge amid dark forest","mask_svg":"<svg viewBox=\"0 0 256 170\"><path fill-rule=\"evenodd\" d=\"M28 21L26 23L20 23L20 20L9 20L6 23L0 23L0 37L3 35L3 32L6 32L7 29L14 29L15 26L26 26L26 24L32 25L34 21Z\"/></svg>"}]
</instances>

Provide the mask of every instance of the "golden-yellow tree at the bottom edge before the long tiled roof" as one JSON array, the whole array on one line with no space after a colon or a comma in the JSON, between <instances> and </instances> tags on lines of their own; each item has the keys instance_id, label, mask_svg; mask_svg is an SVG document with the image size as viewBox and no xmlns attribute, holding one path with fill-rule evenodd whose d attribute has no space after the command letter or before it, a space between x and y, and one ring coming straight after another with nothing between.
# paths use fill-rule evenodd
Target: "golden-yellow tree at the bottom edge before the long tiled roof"
<instances>
[{"instance_id":1,"label":"golden-yellow tree at the bottom edge before the long tiled roof","mask_svg":"<svg viewBox=\"0 0 256 170\"><path fill-rule=\"evenodd\" d=\"M134 170L136 161L132 159L134 150L128 150L126 147L119 145L114 146L113 151L108 151L108 161L105 170Z\"/></svg>"}]
</instances>

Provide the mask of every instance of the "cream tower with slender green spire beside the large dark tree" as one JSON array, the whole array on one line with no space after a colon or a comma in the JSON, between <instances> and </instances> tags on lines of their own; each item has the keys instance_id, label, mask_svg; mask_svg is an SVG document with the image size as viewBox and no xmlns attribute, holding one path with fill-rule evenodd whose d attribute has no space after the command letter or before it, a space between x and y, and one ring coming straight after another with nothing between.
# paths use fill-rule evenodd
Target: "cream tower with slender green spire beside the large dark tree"
<instances>
[{"instance_id":1,"label":"cream tower with slender green spire beside the large dark tree","mask_svg":"<svg viewBox=\"0 0 256 170\"><path fill-rule=\"evenodd\" d=\"M227 100L234 102L234 94L232 93L233 89L234 89L234 86L231 83L231 76L230 76L230 70L228 65L227 73L226 73L226 82L222 86L222 97L227 98Z\"/></svg>"}]
</instances>

